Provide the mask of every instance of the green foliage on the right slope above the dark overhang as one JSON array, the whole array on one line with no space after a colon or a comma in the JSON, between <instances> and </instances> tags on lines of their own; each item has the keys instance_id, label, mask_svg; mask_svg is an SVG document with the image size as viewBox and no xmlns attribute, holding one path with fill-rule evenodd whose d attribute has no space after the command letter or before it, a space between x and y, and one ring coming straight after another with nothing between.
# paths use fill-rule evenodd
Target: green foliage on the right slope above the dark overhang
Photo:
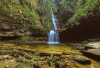
<instances>
[{"instance_id":1,"label":"green foliage on the right slope above the dark overhang","mask_svg":"<svg viewBox=\"0 0 100 68\"><path fill-rule=\"evenodd\" d=\"M78 1L81 3L81 1ZM84 5L79 5L75 11L75 14L68 20L68 23L66 23L65 26L75 26L79 25L79 21L84 18L88 18L89 15L95 16L93 14L94 10L99 10L99 5L98 0L92 1L92 0L86 0ZM91 11L91 12L90 12ZM73 24L73 25L72 25Z\"/></svg>"}]
</instances>

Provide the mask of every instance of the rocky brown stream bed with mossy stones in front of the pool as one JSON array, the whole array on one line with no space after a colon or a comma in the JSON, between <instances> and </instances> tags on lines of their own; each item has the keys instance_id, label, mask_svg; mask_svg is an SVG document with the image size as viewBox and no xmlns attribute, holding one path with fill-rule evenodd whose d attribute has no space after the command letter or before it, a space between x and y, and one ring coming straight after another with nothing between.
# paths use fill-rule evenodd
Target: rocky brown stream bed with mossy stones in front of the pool
<instances>
[{"instance_id":1,"label":"rocky brown stream bed with mossy stones in front of the pool","mask_svg":"<svg viewBox=\"0 0 100 68\"><path fill-rule=\"evenodd\" d=\"M99 42L95 43L95 46ZM73 45L72 45L73 46ZM48 53L27 49L29 46L0 45L0 68L100 68L100 50L89 44L74 44L80 53Z\"/></svg>"}]
</instances>

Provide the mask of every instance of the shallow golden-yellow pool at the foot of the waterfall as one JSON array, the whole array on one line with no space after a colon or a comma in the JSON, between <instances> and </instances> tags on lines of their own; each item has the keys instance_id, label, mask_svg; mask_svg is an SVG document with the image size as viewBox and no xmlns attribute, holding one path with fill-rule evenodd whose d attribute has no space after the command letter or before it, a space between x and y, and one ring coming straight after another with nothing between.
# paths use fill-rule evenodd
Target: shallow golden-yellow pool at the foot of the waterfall
<instances>
[{"instance_id":1,"label":"shallow golden-yellow pool at the foot of the waterfall","mask_svg":"<svg viewBox=\"0 0 100 68\"><path fill-rule=\"evenodd\" d=\"M23 44L17 44L20 46ZM72 46L62 44L24 44L23 49L38 50L40 52L58 53L61 54L64 51L80 53L79 50L72 50Z\"/></svg>"}]
</instances>

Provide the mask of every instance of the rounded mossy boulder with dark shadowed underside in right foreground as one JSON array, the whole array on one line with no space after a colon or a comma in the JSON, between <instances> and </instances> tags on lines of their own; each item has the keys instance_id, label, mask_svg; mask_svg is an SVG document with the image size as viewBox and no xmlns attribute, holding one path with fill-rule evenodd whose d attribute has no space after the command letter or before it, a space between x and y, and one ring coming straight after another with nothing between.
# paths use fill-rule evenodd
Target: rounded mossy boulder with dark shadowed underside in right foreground
<instances>
[{"instance_id":1,"label":"rounded mossy boulder with dark shadowed underside in right foreground","mask_svg":"<svg viewBox=\"0 0 100 68\"><path fill-rule=\"evenodd\" d=\"M74 56L74 60L81 64L91 64L90 59L85 56L76 55Z\"/></svg>"}]
</instances>

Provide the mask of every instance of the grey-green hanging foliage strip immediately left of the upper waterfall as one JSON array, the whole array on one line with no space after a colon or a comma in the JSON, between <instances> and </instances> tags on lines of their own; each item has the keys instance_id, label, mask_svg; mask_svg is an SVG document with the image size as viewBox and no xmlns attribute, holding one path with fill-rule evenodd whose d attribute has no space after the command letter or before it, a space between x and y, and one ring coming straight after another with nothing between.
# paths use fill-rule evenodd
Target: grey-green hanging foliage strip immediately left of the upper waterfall
<instances>
[{"instance_id":1,"label":"grey-green hanging foliage strip immediately left of the upper waterfall","mask_svg":"<svg viewBox=\"0 0 100 68\"><path fill-rule=\"evenodd\" d=\"M51 0L52 1L52 0ZM44 28L52 28L52 20L51 20L51 8L55 9L56 5L49 0L42 1L40 0L39 4L39 13L40 13L40 20Z\"/></svg>"}]
</instances>

